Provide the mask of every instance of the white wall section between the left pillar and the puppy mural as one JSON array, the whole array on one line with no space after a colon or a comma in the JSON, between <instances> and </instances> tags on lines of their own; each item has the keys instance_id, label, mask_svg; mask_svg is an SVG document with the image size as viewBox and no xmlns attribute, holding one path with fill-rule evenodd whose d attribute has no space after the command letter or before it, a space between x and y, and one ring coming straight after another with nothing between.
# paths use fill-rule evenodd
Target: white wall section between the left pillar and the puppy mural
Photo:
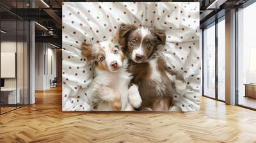
<instances>
[{"instance_id":1,"label":"white wall section between the left pillar and the puppy mural","mask_svg":"<svg viewBox=\"0 0 256 143\"><path fill-rule=\"evenodd\" d=\"M56 49L53 49L54 47L49 43L36 43L35 47L35 89L49 89L51 88L50 80L56 77Z\"/></svg>"}]
</instances>

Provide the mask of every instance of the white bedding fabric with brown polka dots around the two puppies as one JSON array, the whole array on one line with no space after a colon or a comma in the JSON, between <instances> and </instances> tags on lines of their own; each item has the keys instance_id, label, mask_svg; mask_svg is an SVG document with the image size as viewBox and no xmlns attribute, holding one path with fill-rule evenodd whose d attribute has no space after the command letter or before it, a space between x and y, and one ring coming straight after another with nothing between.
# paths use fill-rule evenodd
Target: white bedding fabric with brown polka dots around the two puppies
<instances>
[{"instance_id":1,"label":"white bedding fabric with brown polka dots around the two puppies","mask_svg":"<svg viewBox=\"0 0 256 143\"><path fill-rule=\"evenodd\" d=\"M81 54L81 43L110 40L121 23L166 31L166 45L158 47L157 52L170 68L184 75L188 84L184 95L175 94L171 110L199 110L198 2L65 2L62 12L63 110L91 110L92 67Z\"/></svg>"}]
</instances>

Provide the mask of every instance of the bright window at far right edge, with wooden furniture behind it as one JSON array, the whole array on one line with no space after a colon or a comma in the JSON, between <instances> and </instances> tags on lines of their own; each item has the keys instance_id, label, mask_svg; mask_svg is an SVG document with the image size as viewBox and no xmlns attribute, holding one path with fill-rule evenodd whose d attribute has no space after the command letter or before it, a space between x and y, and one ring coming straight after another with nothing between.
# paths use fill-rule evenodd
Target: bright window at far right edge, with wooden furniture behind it
<instances>
[{"instance_id":1,"label":"bright window at far right edge, with wooden furniture behind it","mask_svg":"<svg viewBox=\"0 0 256 143\"><path fill-rule=\"evenodd\" d=\"M256 3L237 11L237 103L256 109Z\"/></svg>"}]
</instances>

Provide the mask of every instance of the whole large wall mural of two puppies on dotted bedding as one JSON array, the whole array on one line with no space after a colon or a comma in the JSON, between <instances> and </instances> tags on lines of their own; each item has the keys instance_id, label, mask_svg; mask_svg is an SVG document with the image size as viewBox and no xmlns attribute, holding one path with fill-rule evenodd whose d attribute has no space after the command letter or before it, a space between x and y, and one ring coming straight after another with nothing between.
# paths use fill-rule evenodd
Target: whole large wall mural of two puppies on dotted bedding
<instances>
[{"instance_id":1,"label":"whole large wall mural of two puppies on dotted bedding","mask_svg":"<svg viewBox=\"0 0 256 143\"><path fill-rule=\"evenodd\" d=\"M63 3L63 111L197 111L199 3Z\"/></svg>"}]
</instances>

